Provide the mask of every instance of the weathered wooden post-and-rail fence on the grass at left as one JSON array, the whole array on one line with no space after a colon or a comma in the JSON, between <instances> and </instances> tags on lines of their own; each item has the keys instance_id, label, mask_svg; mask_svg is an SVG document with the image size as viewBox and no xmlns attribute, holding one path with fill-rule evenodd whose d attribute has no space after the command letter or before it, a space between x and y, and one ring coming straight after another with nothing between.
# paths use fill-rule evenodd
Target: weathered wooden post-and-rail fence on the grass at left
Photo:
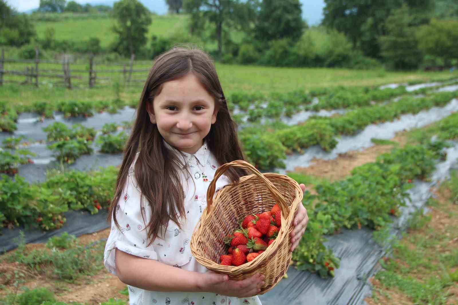
<instances>
[{"instance_id":1,"label":"weathered wooden post-and-rail fence on the grass at left","mask_svg":"<svg viewBox=\"0 0 458 305\"><path fill-rule=\"evenodd\" d=\"M97 69L96 62L94 61L94 56L91 54L89 56L88 69L71 69L71 65L76 65L76 63L70 63L70 56L63 54L61 61L51 61L51 60L40 60L38 49L35 49L35 59L34 60L12 60L5 59L5 52L1 50L0 57L0 86L4 83L19 83L19 84L33 84L35 87L38 87L38 80L42 78L60 78L61 81L56 84L63 84L67 88L72 88L72 81L87 79L87 84L89 88L94 87L94 85L103 83L111 83L113 81L113 76L122 73L122 80L126 85L131 83L143 83L146 81L144 78L133 78L132 74L136 72L148 72L150 69L133 69L135 64L134 62L135 55L132 54L129 63L110 63L110 64L101 64L105 66L122 66L122 69ZM14 70L5 69L5 63L11 64L32 64L24 67L22 71L17 70L15 67ZM53 64L59 65L61 68L43 68L39 69L40 64ZM81 64L79 64L81 65ZM98 76L99 74L99 76ZM100 74L109 74L109 76L100 76ZM6 80L5 76L15 75L15 76L24 76L24 79L18 80L17 77L14 80ZM87 76L85 76L87 75ZM106 82L104 82L106 81Z\"/></svg>"}]
</instances>

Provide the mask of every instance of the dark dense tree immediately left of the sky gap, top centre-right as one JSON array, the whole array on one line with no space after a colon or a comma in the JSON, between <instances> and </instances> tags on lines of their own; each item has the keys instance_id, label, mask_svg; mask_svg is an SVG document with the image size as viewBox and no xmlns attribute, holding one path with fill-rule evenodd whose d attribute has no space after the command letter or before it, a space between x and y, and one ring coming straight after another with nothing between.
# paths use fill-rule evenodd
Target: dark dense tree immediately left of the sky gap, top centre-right
<instances>
[{"instance_id":1,"label":"dark dense tree immediately left of the sky gap, top centre-right","mask_svg":"<svg viewBox=\"0 0 458 305\"><path fill-rule=\"evenodd\" d=\"M283 38L297 41L306 27L299 0L263 0L256 20L255 38L261 42Z\"/></svg>"}]
</instances>

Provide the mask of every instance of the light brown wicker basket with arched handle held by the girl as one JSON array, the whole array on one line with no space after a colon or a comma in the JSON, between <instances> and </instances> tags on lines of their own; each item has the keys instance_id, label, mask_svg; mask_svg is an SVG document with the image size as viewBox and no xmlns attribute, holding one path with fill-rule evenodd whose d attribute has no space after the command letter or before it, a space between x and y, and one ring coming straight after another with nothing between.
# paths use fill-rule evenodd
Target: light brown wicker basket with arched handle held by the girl
<instances>
[{"instance_id":1,"label":"light brown wicker basket with arched handle held by the girl","mask_svg":"<svg viewBox=\"0 0 458 305\"><path fill-rule=\"evenodd\" d=\"M229 167L246 169L254 174L241 177L237 184L226 185L216 193L213 200L216 181ZM289 234L302 196L298 183L286 175L261 174L243 160L223 164L216 170L208 186L207 207L191 237L192 255L207 269L228 274L232 280L249 278L256 273L263 274L265 284L259 294L266 293L281 280L291 261ZM270 211L275 203L278 203L282 211L282 225L272 245L254 260L241 266L220 265L220 256L226 254L228 249L223 243L223 237L232 234L240 226L240 219L246 215Z\"/></svg>"}]
</instances>

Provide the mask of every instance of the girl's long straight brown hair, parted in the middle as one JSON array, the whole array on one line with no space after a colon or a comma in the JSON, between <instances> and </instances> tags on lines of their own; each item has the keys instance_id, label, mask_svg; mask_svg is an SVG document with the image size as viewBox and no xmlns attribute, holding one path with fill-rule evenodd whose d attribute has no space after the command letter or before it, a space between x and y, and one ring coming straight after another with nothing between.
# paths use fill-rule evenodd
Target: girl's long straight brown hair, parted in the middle
<instances>
[{"instance_id":1,"label":"girl's long straight brown hair, parted in the middle","mask_svg":"<svg viewBox=\"0 0 458 305\"><path fill-rule=\"evenodd\" d=\"M207 147L216 157L220 165L234 160L245 160L237 137L237 125L232 120L224 97L223 88L218 79L215 66L209 56L200 49L192 47L176 47L159 55L147 81L143 87L137 108L136 120L124 150L124 158L116 182L116 192L109 207L108 221L113 215L114 223L120 228L116 220L116 206L124 189L127 174L136 153L138 158L135 163L135 179L142 192L143 199L151 206L151 220L147 223L147 245L159 236L159 228L165 227L169 220L176 223L180 229L179 216L186 213L184 208L184 192L181 185L180 171L182 165L174 153L165 147L164 140L156 124L150 122L147 113L147 104L153 103L162 85L194 73L215 99L215 108L218 109L216 122L211 126L205 137ZM245 170L231 168L226 172L231 182L236 182ZM144 197L144 198L143 198ZM142 217L145 219L144 209ZM169 212L168 212L169 210ZM111 215L110 215L111 214Z\"/></svg>"}]
</instances>

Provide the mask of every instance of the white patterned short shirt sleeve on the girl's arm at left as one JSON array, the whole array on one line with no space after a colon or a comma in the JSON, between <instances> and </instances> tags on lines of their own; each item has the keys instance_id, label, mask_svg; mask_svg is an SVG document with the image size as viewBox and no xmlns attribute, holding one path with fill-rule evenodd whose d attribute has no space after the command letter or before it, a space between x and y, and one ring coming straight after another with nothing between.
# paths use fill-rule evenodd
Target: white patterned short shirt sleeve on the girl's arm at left
<instances>
[{"instance_id":1,"label":"white patterned short shirt sleeve on the girl's arm at left","mask_svg":"<svg viewBox=\"0 0 458 305\"><path fill-rule=\"evenodd\" d=\"M114 224L111 217L111 232L104 251L104 265L110 273L116 274L115 249L118 248L131 255L157 260L158 255L153 249L153 244L146 246L146 224L151 215L151 207L143 198L140 205L141 192L135 180L133 166L129 169L123 193L115 207L116 220L120 229ZM143 220L142 212L145 217Z\"/></svg>"}]
</instances>

